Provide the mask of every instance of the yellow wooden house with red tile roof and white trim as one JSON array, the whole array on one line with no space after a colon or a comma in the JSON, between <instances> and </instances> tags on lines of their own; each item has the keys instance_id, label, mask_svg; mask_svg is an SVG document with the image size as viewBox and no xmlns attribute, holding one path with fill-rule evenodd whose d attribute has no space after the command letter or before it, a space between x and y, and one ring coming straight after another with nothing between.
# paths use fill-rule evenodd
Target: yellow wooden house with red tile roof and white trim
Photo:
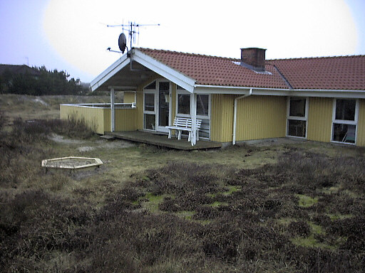
<instances>
[{"instance_id":1,"label":"yellow wooden house with red tile roof and white trim","mask_svg":"<svg viewBox=\"0 0 365 273\"><path fill-rule=\"evenodd\" d=\"M193 127L202 120L200 139L220 143L294 137L365 146L365 55L265 60L262 48L242 48L241 58L133 48L91 89L110 91L103 114L81 114L101 134L165 133L175 117L190 117ZM136 107L115 107L117 90ZM74 110L61 105L61 117Z\"/></svg>"}]
</instances>

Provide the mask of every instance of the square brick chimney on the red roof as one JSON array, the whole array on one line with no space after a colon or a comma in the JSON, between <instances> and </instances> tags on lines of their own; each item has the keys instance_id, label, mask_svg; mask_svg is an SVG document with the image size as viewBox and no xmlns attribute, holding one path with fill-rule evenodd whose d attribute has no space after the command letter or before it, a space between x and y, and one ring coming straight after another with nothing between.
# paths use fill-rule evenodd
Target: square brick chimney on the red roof
<instances>
[{"instance_id":1,"label":"square brick chimney on the red roof","mask_svg":"<svg viewBox=\"0 0 365 273\"><path fill-rule=\"evenodd\" d=\"M241 48L242 65L256 71L265 70L264 48Z\"/></svg>"}]
</instances>

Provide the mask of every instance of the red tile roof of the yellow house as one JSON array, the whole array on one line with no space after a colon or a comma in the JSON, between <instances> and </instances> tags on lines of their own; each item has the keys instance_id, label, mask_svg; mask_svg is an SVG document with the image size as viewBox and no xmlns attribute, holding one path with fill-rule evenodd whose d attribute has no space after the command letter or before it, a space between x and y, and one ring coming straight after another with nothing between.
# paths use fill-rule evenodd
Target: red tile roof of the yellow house
<instances>
[{"instance_id":1,"label":"red tile roof of the yellow house","mask_svg":"<svg viewBox=\"0 0 365 273\"><path fill-rule=\"evenodd\" d=\"M240 59L148 48L138 50L194 79L197 85L365 90L365 55L266 60L265 70L269 73L256 73L238 65Z\"/></svg>"}]
</instances>

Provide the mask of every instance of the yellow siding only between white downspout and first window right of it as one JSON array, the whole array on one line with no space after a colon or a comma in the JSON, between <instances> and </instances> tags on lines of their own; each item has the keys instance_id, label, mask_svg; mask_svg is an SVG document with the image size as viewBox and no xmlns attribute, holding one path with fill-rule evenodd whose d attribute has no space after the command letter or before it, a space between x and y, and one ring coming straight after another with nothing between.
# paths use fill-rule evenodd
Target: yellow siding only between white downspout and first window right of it
<instances>
[{"instance_id":1,"label":"yellow siding only between white downspout and first window right of it","mask_svg":"<svg viewBox=\"0 0 365 273\"><path fill-rule=\"evenodd\" d=\"M254 95L237 100L236 141L285 137L286 124L287 97Z\"/></svg>"}]
</instances>

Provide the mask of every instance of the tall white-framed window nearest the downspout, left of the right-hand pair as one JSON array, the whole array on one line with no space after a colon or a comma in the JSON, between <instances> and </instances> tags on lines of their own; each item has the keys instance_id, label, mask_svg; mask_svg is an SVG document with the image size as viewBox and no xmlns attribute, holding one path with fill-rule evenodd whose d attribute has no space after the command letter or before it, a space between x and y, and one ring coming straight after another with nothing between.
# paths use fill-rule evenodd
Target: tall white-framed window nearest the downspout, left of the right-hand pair
<instances>
[{"instance_id":1,"label":"tall white-framed window nearest the downspout, left of the right-hand pair","mask_svg":"<svg viewBox=\"0 0 365 273\"><path fill-rule=\"evenodd\" d=\"M287 136L306 138L308 99L289 97L287 107Z\"/></svg>"}]
</instances>

